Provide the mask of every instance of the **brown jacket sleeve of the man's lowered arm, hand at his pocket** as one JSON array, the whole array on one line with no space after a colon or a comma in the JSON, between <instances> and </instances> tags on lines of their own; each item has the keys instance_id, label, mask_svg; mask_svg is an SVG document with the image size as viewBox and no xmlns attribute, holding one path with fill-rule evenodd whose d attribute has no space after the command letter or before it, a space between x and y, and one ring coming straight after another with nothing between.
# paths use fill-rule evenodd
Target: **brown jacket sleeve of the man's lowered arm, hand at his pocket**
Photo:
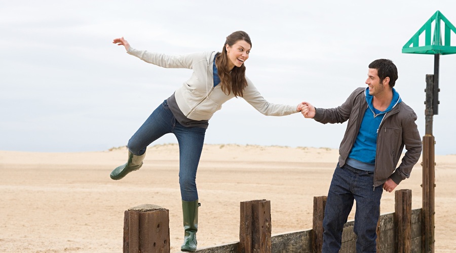
<instances>
[{"instance_id":1,"label":"brown jacket sleeve of the man's lowered arm, hand at his pocket","mask_svg":"<svg viewBox=\"0 0 456 253\"><path fill-rule=\"evenodd\" d=\"M408 106L407 106L408 107ZM405 146L405 154L402 157L399 167L391 175L391 179L399 184L402 180L410 177L410 172L416 162L420 159L423 144L420 133L416 126L416 114L411 108L407 108L411 112L402 122L402 141Z\"/></svg>"}]
</instances>

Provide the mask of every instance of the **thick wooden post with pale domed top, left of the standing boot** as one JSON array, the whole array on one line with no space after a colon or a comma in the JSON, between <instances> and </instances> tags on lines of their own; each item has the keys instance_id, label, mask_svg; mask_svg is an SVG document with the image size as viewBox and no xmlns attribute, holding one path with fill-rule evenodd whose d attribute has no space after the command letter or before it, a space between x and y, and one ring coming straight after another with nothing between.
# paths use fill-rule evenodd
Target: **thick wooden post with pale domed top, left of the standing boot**
<instances>
[{"instance_id":1,"label":"thick wooden post with pale domed top, left of the standing boot","mask_svg":"<svg viewBox=\"0 0 456 253\"><path fill-rule=\"evenodd\" d=\"M169 210L143 204L125 211L124 253L169 253Z\"/></svg>"}]
</instances>

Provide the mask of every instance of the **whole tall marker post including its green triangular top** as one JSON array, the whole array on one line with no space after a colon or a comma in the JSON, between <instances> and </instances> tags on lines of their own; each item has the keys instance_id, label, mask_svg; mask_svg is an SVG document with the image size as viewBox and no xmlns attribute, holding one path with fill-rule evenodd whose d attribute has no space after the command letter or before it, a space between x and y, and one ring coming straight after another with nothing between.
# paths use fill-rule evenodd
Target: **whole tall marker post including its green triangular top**
<instances>
[{"instance_id":1,"label":"whole tall marker post including its green triangular top","mask_svg":"<svg viewBox=\"0 0 456 253\"><path fill-rule=\"evenodd\" d=\"M444 24L444 45L442 45L441 24ZM434 25L434 26L433 26ZM432 34L432 28L433 34ZM451 31L456 28L442 13L437 11L420 30L404 45L402 53L434 55L434 74L426 75L426 135L423 137L423 238L422 251L434 252L435 223L435 160L434 136L432 135L433 116L438 114L439 61L440 55L455 54L451 46ZM420 35L425 32L425 45L420 46Z\"/></svg>"}]
</instances>

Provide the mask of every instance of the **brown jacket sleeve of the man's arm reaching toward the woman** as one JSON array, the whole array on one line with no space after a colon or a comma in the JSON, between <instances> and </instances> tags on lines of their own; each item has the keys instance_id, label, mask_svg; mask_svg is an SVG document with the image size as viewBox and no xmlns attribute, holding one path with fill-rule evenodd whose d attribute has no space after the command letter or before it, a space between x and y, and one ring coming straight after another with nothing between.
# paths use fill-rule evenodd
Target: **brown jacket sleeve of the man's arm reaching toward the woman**
<instances>
[{"instance_id":1,"label":"brown jacket sleeve of the man's arm reaching toward the woman","mask_svg":"<svg viewBox=\"0 0 456 253\"><path fill-rule=\"evenodd\" d=\"M358 88L347 98L347 100L336 108L323 109L315 108L314 119L320 123L344 123L350 118L353 106L357 99L363 99L364 88ZM361 96L361 97L360 97Z\"/></svg>"}]
</instances>

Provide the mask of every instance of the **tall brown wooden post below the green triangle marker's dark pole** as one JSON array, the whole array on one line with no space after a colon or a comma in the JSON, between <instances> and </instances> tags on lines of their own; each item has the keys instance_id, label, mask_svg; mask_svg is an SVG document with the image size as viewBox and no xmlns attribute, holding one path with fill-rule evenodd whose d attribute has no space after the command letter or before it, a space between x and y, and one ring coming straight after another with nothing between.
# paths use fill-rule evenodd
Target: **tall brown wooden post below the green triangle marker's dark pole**
<instances>
[{"instance_id":1,"label":"tall brown wooden post below the green triangle marker's dark pole","mask_svg":"<svg viewBox=\"0 0 456 253\"><path fill-rule=\"evenodd\" d=\"M423 222L422 252L434 252L435 161L434 136L423 136Z\"/></svg>"}]
</instances>

